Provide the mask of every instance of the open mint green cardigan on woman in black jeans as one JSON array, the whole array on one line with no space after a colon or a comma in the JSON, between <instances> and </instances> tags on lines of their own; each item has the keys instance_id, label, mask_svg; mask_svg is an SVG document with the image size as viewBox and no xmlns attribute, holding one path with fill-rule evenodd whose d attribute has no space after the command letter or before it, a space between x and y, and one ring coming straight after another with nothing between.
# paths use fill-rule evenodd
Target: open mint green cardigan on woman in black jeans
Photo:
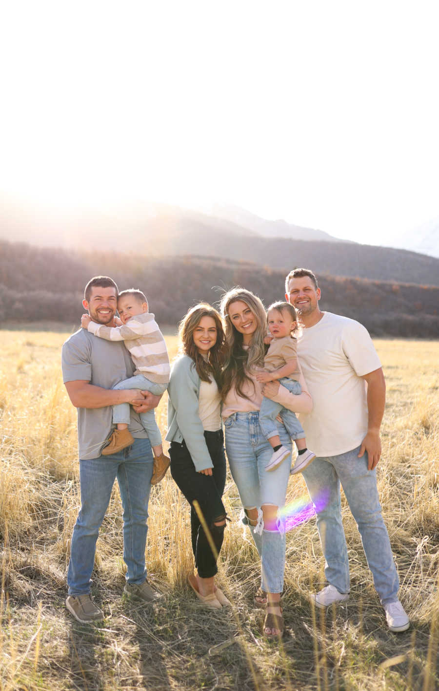
<instances>
[{"instance_id":1,"label":"open mint green cardigan on woman in black jeans","mask_svg":"<svg viewBox=\"0 0 439 691\"><path fill-rule=\"evenodd\" d=\"M195 470L213 468L208 452L204 429L198 412L199 385L201 381L195 363L188 355L182 355L173 363L168 386L168 433L167 442L186 443Z\"/></svg>"}]
</instances>

